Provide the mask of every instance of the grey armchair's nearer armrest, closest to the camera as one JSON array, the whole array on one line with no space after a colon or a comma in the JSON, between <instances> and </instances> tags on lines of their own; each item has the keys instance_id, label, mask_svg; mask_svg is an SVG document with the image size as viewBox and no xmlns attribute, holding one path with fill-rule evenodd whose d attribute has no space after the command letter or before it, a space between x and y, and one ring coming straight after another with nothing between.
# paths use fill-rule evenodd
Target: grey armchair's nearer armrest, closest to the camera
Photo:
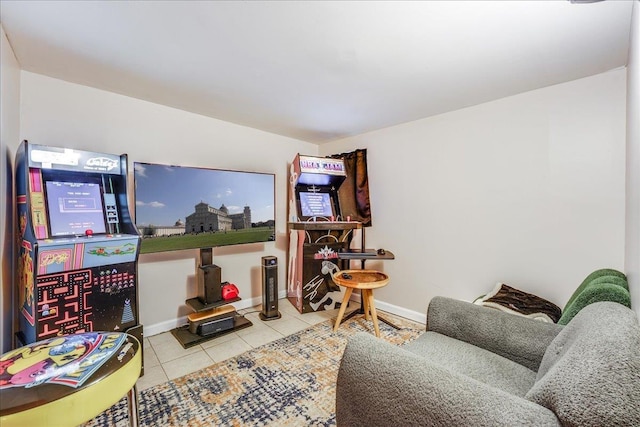
<instances>
[{"instance_id":1,"label":"grey armchair's nearer armrest, closest to the camera","mask_svg":"<svg viewBox=\"0 0 640 427\"><path fill-rule=\"evenodd\" d=\"M549 409L457 374L369 334L345 348L338 426L557 426Z\"/></svg>"}]
</instances>

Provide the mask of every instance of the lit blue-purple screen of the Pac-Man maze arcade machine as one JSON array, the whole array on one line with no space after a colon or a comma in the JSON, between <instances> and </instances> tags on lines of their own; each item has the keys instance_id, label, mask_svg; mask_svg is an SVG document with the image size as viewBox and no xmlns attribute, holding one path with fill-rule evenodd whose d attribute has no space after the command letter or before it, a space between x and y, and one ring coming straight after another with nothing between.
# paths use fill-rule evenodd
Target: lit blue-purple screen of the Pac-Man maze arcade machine
<instances>
[{"instance_id":1,"label":"lit blue-purple screen of the Pac-Man maze arcade machine","mask_svg":"<svg viewBox=\"0 0 640 427\"><path fill-rule=\"evenodd\" d=\"M51 236L106 233L100 184L46 181Z\"/></svg>"}]
</instances>

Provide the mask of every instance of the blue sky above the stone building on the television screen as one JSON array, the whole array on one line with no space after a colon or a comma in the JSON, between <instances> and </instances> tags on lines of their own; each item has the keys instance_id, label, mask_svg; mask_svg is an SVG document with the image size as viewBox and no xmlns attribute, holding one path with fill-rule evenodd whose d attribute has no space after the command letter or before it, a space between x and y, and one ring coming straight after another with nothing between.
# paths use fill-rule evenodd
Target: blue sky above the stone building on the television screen
<instances>
[{"instance_id":1,"label":"blue sky above the stone building on the television screen","mask_svg":"<svg viewBox=\"0 0 640 427\"><path fill-rule=\"evenodd\" d=\"M251 208L251 221L273 220L274 175L134 163L136 224L166 226L185 221L200 202L229 213Z\"/></svg>"}]
</instances>

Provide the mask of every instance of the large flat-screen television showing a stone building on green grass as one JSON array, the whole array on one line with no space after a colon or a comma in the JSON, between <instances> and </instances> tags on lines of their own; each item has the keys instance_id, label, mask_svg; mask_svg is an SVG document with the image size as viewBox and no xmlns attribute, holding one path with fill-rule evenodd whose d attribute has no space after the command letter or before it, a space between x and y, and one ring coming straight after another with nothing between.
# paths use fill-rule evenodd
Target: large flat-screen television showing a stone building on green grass
<instances>
[{"instance_id":1,"label":"large flat-screen television showing a stone building on green grass","mask_svg":"<svg viewBox=\"0 0 640 427\"><path fill-rule=\"evenodd\" d=\"M140 253L275 240L275 174L134 162Z\"/></svg>"}]
</instances>

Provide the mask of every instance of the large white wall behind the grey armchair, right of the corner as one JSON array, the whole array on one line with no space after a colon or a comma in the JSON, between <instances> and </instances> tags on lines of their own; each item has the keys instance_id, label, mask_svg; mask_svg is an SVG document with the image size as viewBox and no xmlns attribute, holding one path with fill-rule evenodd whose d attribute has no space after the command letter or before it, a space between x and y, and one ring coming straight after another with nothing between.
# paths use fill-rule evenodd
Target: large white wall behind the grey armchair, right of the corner
<instances>
[{"instance_id":1,"label":"large white wall behind the grey armchair, right of the corner","mask_svg":"<svg viewBox=\"0 0 640 427\"><path fill-rule=\"evenodd\" d=\"M323 145L367 148L369 263L383 304L424 313L498 281L561 307L591 271L624 269L625 70Z\"/></svg>"}]
</instances>

